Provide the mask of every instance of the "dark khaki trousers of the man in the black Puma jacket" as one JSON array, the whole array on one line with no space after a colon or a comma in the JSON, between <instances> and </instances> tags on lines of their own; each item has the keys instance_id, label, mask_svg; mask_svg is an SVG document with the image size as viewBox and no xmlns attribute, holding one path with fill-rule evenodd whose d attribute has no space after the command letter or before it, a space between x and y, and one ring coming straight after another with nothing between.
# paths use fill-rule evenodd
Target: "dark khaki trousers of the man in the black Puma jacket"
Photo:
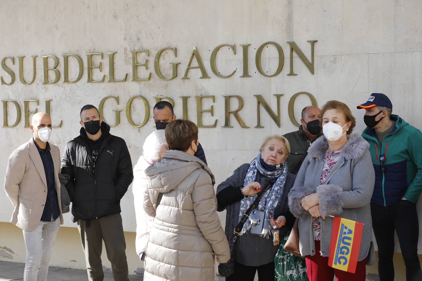
<instances>
[{"instance_id":1,"label":"dark khaki trousers of the man in the black Puma jacket","mask_svg":"<svg viewBox=\"0 0 422 281\"><path fill-rule=\"evenodd\" d=\"M129 281L122 216L111 214L89 221L78 219L77 223L85 253L89 281L103 281L104 279L103 264L101 263L103 241L106 245L108 260L111 262L114 280Z\"/></svg>"}]
</instances>

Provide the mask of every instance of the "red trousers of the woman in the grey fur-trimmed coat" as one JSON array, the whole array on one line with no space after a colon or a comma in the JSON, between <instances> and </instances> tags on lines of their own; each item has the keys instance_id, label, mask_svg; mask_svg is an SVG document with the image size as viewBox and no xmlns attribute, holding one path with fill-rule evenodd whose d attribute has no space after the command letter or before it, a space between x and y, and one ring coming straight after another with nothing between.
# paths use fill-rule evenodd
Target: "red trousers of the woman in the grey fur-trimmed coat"
<instances>
[{"instance_id":1,"label":"red trousers of the woman in the grey fur-trimmed coat","mask_svg":"<svg viewBox=\"0 0 422 281\"><path fill-rule=\"evenodd\" d=\"M315 255L306 256L306 267L309 281L365 281L366 277L366 259L357 262L356 272L350 273L328 266L328 257L322 257L319 254L321 250L320 241L315 241Z\"/></svg>"}]
</instances>

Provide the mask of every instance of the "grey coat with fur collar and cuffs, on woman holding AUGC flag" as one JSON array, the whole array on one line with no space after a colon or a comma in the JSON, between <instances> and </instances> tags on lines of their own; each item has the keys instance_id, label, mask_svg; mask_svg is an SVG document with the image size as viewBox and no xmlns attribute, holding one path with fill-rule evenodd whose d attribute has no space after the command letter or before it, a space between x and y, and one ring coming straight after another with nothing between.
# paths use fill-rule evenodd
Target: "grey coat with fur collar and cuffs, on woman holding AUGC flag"
<instances>
[{"instance_id":1,"label":"grey coat with fur collar and cuffs, on woman holding AUGC flag","mask_svg":"<svg viewBox=\"0 0 422 281\"><path fill-rule=\"evenodd\" d=\"M328 150L327 139L321 136L309 147L308 155L289 193L290 211L299 218L299 244L303 256L316 253L312 233L313 218L302 208L300 200L306 195L317 193L319 210L326 217L321 221L321 252L318 254L328 257L333 218L327 216L333 215L364 223L358 260L368 256L367 265L375 262L370 209L375 174L368 147L368 142L361 136L351 134L340 150L340 158L331 169L325 185L320 182Z\"/></svg>"}]
</instances>

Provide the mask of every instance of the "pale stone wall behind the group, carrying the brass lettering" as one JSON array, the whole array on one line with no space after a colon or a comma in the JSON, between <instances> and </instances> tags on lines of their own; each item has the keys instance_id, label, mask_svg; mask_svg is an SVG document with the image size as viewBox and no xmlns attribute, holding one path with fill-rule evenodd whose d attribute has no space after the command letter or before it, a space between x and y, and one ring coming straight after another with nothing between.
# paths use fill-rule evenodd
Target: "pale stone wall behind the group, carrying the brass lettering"
<instances>
[{"instance_id":1,"label":"pale stone wall behind the group, carrying the brass lettering","mask_svg":"<svg viewBox=\"0 0 422 281\"><path fill-rule=\"evenodd\" d=\"M422 70L422 3L417 0L395 1L352 1L352 0L233 0L233 1L7 1L0 10L0 25L3 26L0 42L0 58L14 57L5 61L13 70L16 81L11 86L0 85L2 100L15 100L22 108L19 124L14 128L0 128L0 179L3 179L8 155L20 144L30 139L29 128L24 128L23 100L38 99L29 103L29 111L38 108L44 111L44 99L51 101L53 125L63 121L61 128L54 128L51 141L61 149L66 142L78 135L80 125L79 109L84 104L98 105L105 96L119 96L119 104L109 99L104 106L104 117L114 123L113 110L120 113L121 123L111 129L111 133L122 136L129 146L133 163L141 155L141 147L146 136L154 130L152 107L154 96L169 96L175 100L176 115L182 117L182 99L190 96L187 103L188 117L197 121L195 96L214 95L215 102L204 99L204 109L214 105L214 116L203 113L203 124L213 124L216 128L200 128L200 142L207 156L208 164L216 176L216 182L224 180L236 167L250 162L257 155L262 139L269 134L284 134L296 127L289 120L288 102L297 92L306 91L317 99L319 105L331 99L346 102L357 117L356 131L365 127L363 112L356 105L368 98L372 92L387 94L394 104L393 113L399 114L417 128L422 128L421 70ZM314 74L293 54L296 76L289 76L289 44L294 41L311 60L308 40L315 43ZM284 50L284 68L274 77L260 74L255 64L255 54L259 46L274 41ZM217 56L219 72L230 78L219 78L212 71L210 57L219 44L235 44L233 50L224 47ZM248 68L251 77L243 74L243 52L240 44L249 46ZM182 80L190 55L197 47L209 79L200 79L198 69L189 71L189 80ZM154 56L161 48L177 48L177 57L169 51L163 54L160 66L163 75L171 76L170 62L180 62L177 77L162 80L154 72ZM132 55L130 51L146 50L138 57L139 63L148 59L148 70L139 67L139 77L145 78L151 72L151 80L132 82ZM128 73L122 83L87 83L87 53L103 53L104 58L94 59L94 64L102 62L103 70L94 70L93 78L109 79L107 52L117 52L114 69L116 79ZM83 60L84 72L77 83L64 84L63 54L77 54ZM19 81L18 56L25 56L24 78L32 78L32 59L37 55L36 77L31 85ZM54 55L59 58L61 77L58 83L43 85L43 63L40 56ZM279 57L273 45L262 52L264 73L274 73ZM69 59L69 75L78 75L76 60ZM52 61L49 62L52 65ZM194 59L193 65L197 65ZM0 76L5 83L11 80L3 69ZM50 72L50 81L54 78ZM234 128L225 125L225 103L222 95L238 95L243 98L244 107L239 112L250 128L241 128L231 116ZM274 94L281 96L281 128L261 107L261 125L257 125L257 101L253 95L262 95L275 111ZM131 96L142 95L151 109L148 123L134 128L126 119L125 106ZM301 95L295 102L295 118L300 119L300 109L309 104L309 99ZM235 109L234 100L231 110ZM16 111L8 103L8 123L16 120ZM143 102L136 99L132 104L133 122L143 120ZM2 116L2 115L0 115ZM1 184L1 180L0 180ZM13 211L5 193L0 192L0 221L7 222ZM421 206L418 206L421 210ZM124 230L135 231L135 215L132 187L122 200ZM223 214L224 216L224 214ZM420 222L419 225L422 225ZM66 215L66 227L75 227ZM67 228L64 228L67 229ZM3 230L3 224L2 224ZM73 231L65 230L65 231ZM61 230L61 233L63 230ZM0 234L0 246L9 247L10 239ZM60 234L61 236L62 234ZM76 236L76 234L74 234ZM14 236L23 243L22 236ZM60 240L60 239L59 239ZM58 241L59 241L58 240ZM421 240L421 239L420 239ZM78 239L73 239L73 248L80 249ZM18 243L18 242L16 242ZM73 243L73 242L72 242ZM128 244L129 246L130 244ZM398 245L398 243L396 243ZM9 247L10 248L10 247ZM399 248L396 246L397 251ZM419 246L419 249L422 249ZM55 253L57 255L57 253ZM81 264L81 252L72 259ZM135 257L136 260L136 257ZM55 262L58 260L55 260ZM64 263L73 265L73 263ZM64 265L63 264L63 265ZM56 264L58 265L58 264Z\"/></svg>"}]
</instances>

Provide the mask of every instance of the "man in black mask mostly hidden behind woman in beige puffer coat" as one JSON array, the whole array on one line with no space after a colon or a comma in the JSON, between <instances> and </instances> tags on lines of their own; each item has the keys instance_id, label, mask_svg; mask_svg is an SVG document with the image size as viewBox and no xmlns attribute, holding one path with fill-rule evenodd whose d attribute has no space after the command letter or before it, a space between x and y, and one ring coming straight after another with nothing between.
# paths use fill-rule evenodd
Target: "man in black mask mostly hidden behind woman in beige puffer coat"
<instances>
[{"instance_id":1,"label":"man in black mask mostly hidden behind woman in beige puffer coat","mask_svg":"<svg viewBox=\"0 0 422 281\"><path fill-rule=\"evenodd\" d=\"M174 111L173 111L173 105L171 105L170 102L166 102L166 101L157 102L157 104L154 105L153 114L154 114L153 118L155 122L155 128L157 128L157 130L165 129L168 123L170 123L173 120L176 120L176 115L174 115ZM196 151L195 156L207 164L205 153L201 144L199 144L198 150Z\"/></svg>"}]
</instances>

